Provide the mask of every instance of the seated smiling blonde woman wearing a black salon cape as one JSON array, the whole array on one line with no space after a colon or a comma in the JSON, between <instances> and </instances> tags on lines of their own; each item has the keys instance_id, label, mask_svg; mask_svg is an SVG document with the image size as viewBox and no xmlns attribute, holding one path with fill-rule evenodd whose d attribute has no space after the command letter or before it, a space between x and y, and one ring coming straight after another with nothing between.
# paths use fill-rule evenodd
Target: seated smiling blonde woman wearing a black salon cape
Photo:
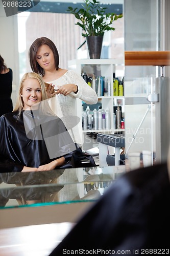
<instances>
[{"instance_id":1,"label":"seated smiling blonde woman wearing a black salon cape","mask_svg":"<svg viewBox=\"0 0 170 256\"><path fill-rule=\"evenodd\" d=\"M74 150L63 121L48 105L43 79L26 73L13 112L0 118L0 171L52 170L68 163Z\"/></svg>"}]
</instances>

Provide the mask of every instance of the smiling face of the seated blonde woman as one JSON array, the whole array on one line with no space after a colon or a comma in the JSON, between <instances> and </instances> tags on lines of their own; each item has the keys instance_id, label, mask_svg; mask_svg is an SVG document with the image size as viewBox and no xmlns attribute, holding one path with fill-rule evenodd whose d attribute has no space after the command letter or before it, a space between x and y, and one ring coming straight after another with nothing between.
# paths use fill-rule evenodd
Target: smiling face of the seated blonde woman
<instances>
[{"instance_id":1,"label":"smiling face of the seated blonde woman","mask_svg":"<svg viewBox=\"0 0 170 256\"><path fill-rule=\"evenodd\" d=\"M24 106L23 110L30 109L35 103L42 100L42 92L39 81L35 78L28 78L23 82L21 94Z\"/></svg>"}]
</instances>

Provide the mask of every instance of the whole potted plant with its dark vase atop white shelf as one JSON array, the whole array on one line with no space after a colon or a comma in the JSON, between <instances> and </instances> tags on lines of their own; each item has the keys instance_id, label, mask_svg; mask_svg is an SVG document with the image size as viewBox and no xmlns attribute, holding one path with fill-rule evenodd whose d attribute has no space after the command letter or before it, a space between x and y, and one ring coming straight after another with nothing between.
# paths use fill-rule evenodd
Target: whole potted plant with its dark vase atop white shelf
<instances>
[{"instance_id":1,"label":"whole potted plant with its dark vase atop white shelf","mask_svg":"<svg viewBox=\"0 0 170 256\"><path fill-rule=\"evenodd\" d=\"M108 8L101 7L97 0L83 0L82 8L68 7L71 14L79 20L76 25L82 28L82 36L86 37L90 58L100 58L103 36L106 31L115 30L114 20L122 18L123 14L108 13Z\"/></svg>"}]
</instances>

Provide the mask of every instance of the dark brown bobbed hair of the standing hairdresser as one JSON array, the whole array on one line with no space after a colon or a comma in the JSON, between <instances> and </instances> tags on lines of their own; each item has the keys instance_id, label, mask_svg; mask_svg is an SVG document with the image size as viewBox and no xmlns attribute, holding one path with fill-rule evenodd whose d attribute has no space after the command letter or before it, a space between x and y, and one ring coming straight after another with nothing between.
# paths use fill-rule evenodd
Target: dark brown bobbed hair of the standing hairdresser
<instances>
[{"instance_id":1,"label":"dark brown bobbed hair of the standing hairdresser","mask_svg":"<svg viewBox=\"0 0 170 256\"><path fill-rule=\"evenodd\" d=\"M50 47L50 49L52 50L52 52L54 54L56 70L59 69L59 54L58 54L58 50L57 50L57 47L55 46L54 42L51 39L44 37L44 36L37 38L33 42L33 44L31 45L31 47L29 49L29 59L30 59L30 66L31 66L32 71L41 76L44 75L44 69L39 66L39 64L36 60L36 55L37 55L37 51L38 51L39 47L42 45L47 45L48 47Z\"/></svg>"}]
</instances>

